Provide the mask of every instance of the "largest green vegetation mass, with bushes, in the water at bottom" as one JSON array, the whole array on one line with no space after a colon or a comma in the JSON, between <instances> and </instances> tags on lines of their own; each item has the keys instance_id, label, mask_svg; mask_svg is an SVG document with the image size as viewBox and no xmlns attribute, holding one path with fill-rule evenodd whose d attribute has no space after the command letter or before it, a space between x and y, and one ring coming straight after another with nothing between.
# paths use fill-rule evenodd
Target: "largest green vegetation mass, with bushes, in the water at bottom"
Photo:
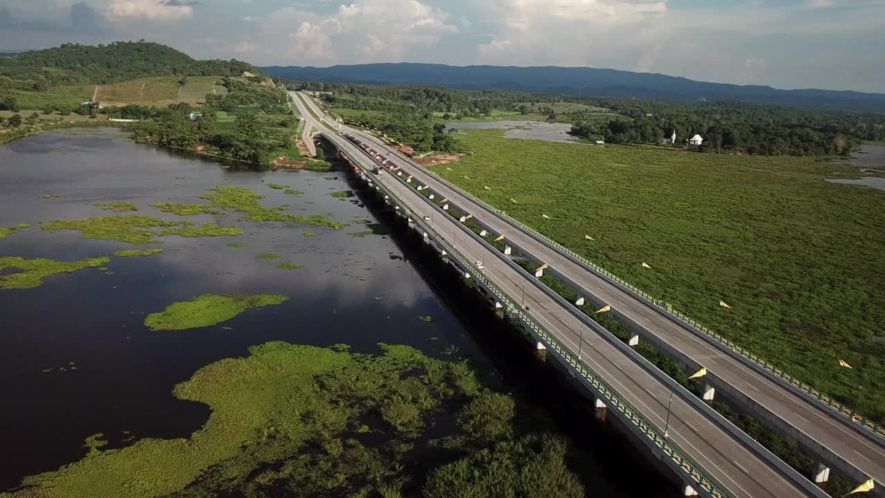
<instances>
[{"instance_id":1,"label":"largest green vegetation mass, with bushes, in the water at bottom","mask_svg":"<svg viewBox=\"0 0 885 498\"><path fill-rule=\"evenodd\" d=\"M96 435L81 461L2 495L584 495L563 440L522 433L512 399L484 388L467 362L381 350L252 346L175 386L212 408L189 439L103 451Z\"/></svg>"}]
</instances>

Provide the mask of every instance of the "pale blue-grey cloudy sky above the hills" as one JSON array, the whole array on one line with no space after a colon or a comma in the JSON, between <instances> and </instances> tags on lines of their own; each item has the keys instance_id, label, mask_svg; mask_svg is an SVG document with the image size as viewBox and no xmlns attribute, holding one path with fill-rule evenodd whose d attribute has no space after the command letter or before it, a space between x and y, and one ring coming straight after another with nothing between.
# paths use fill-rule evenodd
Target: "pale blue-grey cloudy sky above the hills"
<instances>
[{"instance_id":1,"label":"pale blue-grey cloudy sky above the hills","mask_svg":"<svg viewBox=\"0 0 885 498\"><path fill-rule=\"evenodd\" d=\"M885 0L0 2L0 51L139 39L256 66L592 66L885 93Z\"/></svg>"}]
</instances>

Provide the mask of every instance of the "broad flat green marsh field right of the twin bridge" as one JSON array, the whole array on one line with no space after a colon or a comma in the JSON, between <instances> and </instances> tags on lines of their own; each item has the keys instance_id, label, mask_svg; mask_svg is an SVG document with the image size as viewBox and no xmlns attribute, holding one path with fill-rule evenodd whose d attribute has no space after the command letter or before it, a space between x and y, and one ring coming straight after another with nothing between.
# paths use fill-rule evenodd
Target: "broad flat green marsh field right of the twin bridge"
<instances>
[{"instance_id":1,"label":"broad flat green marsh field right of the twin bridge","mask_svg":"<svg viewBox=\"0 0 885 498\"><path fill-rule=\"evenodd\" d=\"M873 340L885 336L885 192L823 181L856 167L466 133L458 138L472 153L437 173L790 374L885 415L885 346Z\"/></svg>"}]
</instances>

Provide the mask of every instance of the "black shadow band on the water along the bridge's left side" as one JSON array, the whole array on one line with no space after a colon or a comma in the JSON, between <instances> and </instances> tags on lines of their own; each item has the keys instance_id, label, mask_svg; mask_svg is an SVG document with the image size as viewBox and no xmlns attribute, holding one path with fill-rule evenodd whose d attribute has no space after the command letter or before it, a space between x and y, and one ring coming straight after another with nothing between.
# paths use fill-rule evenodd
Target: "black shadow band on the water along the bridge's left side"
<instances>
[{"instance_id":1,"label":"black shadow band on the water along the bridge's left side","mask_svg":"<svg viewBox=\"0 0 885 498\"><path fill-rule=\"evenodd\" d=\"M658 498L678 495L678 487L660 471L644 451L617 427L612 414L608 421L596 419L592 400L573 383L565 370L550 358L535 355L535 341L525 331L502 319L493 301L479 287L467 285L462 274L443 261L432 245L410 229L381 196L366 187L350 165L336 160L335 148L323 142L327 160L346 171L356 199L390 229L401 257L408 261L439 296L443 304L479 346L482 358L471 360L494 377L500 390L516 400L519 432L559 432L570 443L569 467L581 479L587 496L611 498ZM396 256L392 256L396 257ZM674 478L674 477L673 477Z\"/></svg>"}]
</instances>

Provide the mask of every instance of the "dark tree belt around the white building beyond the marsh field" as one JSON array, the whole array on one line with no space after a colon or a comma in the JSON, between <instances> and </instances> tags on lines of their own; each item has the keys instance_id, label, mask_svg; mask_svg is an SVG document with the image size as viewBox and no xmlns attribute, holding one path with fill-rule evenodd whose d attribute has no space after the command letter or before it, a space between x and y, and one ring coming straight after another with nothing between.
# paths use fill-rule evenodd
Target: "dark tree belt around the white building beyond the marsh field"
<instances>
[{"instance_id":1,"label":"dark tree belt around the white building beyond the marsh field","mask_svg":"<svg viewBox=\"0 0 885 498\"><path fill-rule=\"evenodd\" d=\"M740 102L673 103L599 101L617 119L579 121L571 133L610 144L658 144L676 132L675 144L700 135L700 152L759 155L847 156L864 140L885 138L885 116L796 109Z\"/></svg>"}]
</instances>

